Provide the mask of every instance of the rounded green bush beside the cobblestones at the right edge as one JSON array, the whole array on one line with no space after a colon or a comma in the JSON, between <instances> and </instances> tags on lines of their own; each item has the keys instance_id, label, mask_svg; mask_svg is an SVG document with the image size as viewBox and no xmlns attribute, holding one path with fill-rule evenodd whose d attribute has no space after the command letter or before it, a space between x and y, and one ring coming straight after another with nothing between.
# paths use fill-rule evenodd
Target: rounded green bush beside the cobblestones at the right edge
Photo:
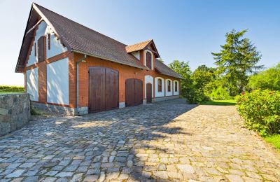
<instances>
[{"instance_id":1,"label":"rounded green bush beside the cobblestones at the right edge","mask_svg":"<svg viewBox=\"0 0 280 182\"><path fill-rule=\"evenodd\" d=\"M248 129L262 137L280 134L280 92L254 90L237 98L237 109Z\"/></svg>"}]
</instances>

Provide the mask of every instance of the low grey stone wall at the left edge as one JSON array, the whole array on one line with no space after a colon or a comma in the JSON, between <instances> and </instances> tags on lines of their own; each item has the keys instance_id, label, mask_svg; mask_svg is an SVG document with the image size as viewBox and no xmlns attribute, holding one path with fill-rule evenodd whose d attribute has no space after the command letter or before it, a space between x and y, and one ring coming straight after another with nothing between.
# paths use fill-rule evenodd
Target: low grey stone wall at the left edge
<instances>
[{"instance_id":1,"label":"low grey stone wall at the left edge","mask_svg":"<svg viewBox=\"0 0 280 182\"><path fill-rule=\"evenodd\" d=\"M0 94L0 136L20 129L29 119L29 94Z\"/></svg>"}]
</instances>

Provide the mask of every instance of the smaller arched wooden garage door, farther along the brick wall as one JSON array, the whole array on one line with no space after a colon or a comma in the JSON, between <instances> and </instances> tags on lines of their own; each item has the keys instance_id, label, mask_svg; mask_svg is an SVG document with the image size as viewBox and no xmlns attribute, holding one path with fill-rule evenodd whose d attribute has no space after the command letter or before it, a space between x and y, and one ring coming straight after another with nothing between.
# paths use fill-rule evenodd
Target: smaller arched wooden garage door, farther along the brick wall
<instances>
[{"instance_id":1,"label":"smaller arched wooden garage door, farther along the brick wall","mask_svg":"<svg viewBox=\"0 0 280 182\"><path fill-rule=\"evenodd\" d=\"M125 106L136 106L143 103L143 83L139 79L125 80Z\"/></svg>"}]
</instances>

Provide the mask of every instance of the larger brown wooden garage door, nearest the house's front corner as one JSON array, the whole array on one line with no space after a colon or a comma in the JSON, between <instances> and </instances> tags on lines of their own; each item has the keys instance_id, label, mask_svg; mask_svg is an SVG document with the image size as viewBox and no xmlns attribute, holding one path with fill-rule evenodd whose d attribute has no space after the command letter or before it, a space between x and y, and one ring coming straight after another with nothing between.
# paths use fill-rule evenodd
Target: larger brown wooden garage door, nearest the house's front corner
<instances>
[{"instance_id":1,"label":"larger brown wooden garage door, nearest the house's front corner","mask_svg":"<svg viewBox=\"0 0 280 182\"><path fill-rule=\"evenodd\" d=\"M88 72L90 113L118 108L118 71L93 66Z\"/></svg>"}]
</instances>

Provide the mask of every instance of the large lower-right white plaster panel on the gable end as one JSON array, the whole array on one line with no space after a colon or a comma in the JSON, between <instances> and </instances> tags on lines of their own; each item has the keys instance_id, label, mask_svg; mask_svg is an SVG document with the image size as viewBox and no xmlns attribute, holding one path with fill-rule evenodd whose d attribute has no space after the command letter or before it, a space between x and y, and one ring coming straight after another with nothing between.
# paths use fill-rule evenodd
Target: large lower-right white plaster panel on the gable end
<instances>
[{"instance_id":1,"label":"large lower-right white plaster panel on the gable end","mask_svg":"<svg viewBox=\"0 0 280 182\"><path fill-rule=\"evenodd\" d=\"M47 102L69 105L68 58L47 64Z\"/></svg>"}]
</instances>

